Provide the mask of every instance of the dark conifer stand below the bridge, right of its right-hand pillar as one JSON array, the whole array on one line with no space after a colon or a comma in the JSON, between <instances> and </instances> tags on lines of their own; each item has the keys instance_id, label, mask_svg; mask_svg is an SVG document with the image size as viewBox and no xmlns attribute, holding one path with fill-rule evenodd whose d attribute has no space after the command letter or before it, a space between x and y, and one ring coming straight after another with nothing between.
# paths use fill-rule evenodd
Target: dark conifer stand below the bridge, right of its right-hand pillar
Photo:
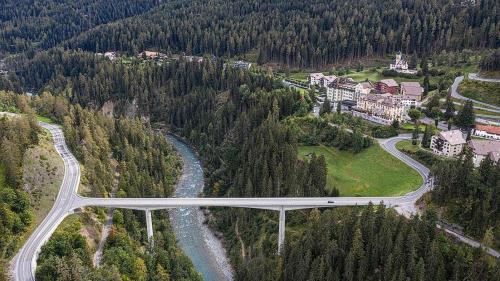
<instances>
[{"instance_id":1,"label":"dark conifer stand below the bridge, right of its right-hand pillar","mask_svg":"<svg viewBox=\"0 0 500 281\"><path fill-rule=\"evenodd\" d=\"M237 279L498 280L498 261L450 243L432 213L411 220L384 206L305 213L291 215L290 228L304 230L287 233L283 260L247 259Z\"/></svg>"}]
</instances>

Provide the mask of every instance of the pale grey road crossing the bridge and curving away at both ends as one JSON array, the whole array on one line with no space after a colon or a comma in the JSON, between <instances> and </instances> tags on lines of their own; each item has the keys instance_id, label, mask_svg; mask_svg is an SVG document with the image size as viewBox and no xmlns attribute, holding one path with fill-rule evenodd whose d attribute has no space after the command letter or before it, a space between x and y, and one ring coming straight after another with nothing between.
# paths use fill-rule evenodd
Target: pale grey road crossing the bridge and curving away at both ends
<instances>
[{"instance_id":1,"label":"pale grey road crossing the bridge and curving away at both ends","mask_svg":"<svg viewBox=\"0 0 500 281\"><path fill-rule=\"evenodd\" d=\"M16 281L32 281L36 270L36 261L42 245L50 238L62 220L75 209L86 206L113 208L129 208L154 210L176 207L242 207L268 210L296 210L304 208L354 206L384 204L396 207L403 214L416 212L415 202L429 191L429 169L396 149L397 142L411 138L401 135L390 139L379 140L380 145L389 153L415 169L424 179L424 184L416 191L398 197L319 197L319 198L88 198L77 194L80 181L78 161L71 154L61 129L58 126L40 122L40 125L53 135L54 144L64 161L64 179L54 205L35 231L28 238L12 262L12 272ZM477 243L477 242L476 242ZM470 244L474 246L473 244ZM497 252L494 252L497 254Z\"/></svg>"}]
</instances>

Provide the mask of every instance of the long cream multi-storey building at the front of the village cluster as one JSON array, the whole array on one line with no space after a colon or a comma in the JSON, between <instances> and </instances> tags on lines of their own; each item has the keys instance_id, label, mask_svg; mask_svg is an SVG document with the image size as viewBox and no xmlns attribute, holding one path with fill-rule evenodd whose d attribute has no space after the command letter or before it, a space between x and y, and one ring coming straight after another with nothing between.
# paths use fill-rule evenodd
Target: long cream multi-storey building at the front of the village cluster
<instances>
[{"instance_id":1,"label":"long cream multi-storey building at the front of the village cluster","mask_svg":"<svg viewBox=\"0 0 500 281\"><path fill-rule=\"evenodd\" d=\"M355 110L361 113L355 115L370 117L366 119L374 119L383 124L390 124L394 120L403 121L405 112L401 102L390 94L361 95Z\"/></svg>"}]
</instances>

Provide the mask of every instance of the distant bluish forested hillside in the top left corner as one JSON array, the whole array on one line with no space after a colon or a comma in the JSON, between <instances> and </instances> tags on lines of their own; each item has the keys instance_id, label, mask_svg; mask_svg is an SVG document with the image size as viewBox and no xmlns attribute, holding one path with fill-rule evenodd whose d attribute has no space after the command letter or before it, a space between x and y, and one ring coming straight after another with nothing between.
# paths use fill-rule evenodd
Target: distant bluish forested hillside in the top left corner
<instances>
[{"instance_id":1,"label":"distant bluish forested hillside in the top left corner","mask_svg":"<svg viewBox=\"0 0 500 281\"><path fill-rule=\"evenodd\" d=\"M151 0L2 0L0 54L49 48L92 27L144 13Z\"/></svg>"}]
</instances>

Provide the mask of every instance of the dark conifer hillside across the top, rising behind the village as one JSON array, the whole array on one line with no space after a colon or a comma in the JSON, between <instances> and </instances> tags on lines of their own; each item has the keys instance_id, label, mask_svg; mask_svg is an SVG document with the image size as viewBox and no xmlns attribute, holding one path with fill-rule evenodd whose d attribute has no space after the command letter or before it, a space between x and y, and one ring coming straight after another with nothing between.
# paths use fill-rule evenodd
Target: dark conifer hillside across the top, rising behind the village
<instances>
[{"instance_id":1,"label":"dark conifer hillside across the top, rising behind the village","mask_svg":"<svg viewBox=\"0 0 500 281\"><path fill-rule=\"evenodd\" d=\"M497 1L476 3L177 0L143 16L98 27L64 45L128 54L144 49L228 57L253 53L259 63L300 67L398 50L422 54L500 46Z\"/></svg>"}]
</instances>

